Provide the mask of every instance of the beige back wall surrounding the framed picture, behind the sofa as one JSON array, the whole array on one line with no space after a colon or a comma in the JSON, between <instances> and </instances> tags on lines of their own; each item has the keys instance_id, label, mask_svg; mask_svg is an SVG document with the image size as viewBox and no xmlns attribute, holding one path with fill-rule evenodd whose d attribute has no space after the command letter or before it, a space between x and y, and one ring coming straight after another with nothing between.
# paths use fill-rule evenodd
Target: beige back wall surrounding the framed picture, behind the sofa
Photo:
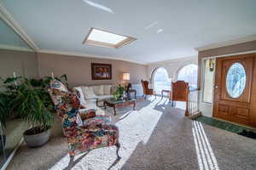
<instances>
[{"instance_id":1,"label":"beige back wall surrounding the framed picture, behind the sofa","mask_svg":"<svg viewBox=\"0 0 256 170\"><path fill-rule=\"evenodd\" d=\"M91 80L91 63L112 64L112 80ZM113 59L96 59L61 54L38 53L39 77L67 74L71 87L79 85L114 84L122 81L122 73L130 72L131 83L138 84L147 77L147 65Z\"/></svg>"}]
</instances>

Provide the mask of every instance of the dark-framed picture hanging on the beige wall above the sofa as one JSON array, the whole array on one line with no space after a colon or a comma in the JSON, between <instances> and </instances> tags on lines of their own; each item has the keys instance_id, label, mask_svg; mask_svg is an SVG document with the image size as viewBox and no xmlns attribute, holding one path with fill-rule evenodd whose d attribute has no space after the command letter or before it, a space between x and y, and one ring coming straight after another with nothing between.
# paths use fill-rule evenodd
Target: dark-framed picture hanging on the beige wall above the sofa
<instances>
[{"instance_id":1,"label":"dark-framed picture hanging on the beige wall above the sofa","mask_svg":"<svg viewBox=\"0 0 256 170\"><path fill-rule=\"evenodd\" d=\"M92 80L111 80L112 65L102 63L91 63L91 79Z\"/></svg>"}]
</instances>

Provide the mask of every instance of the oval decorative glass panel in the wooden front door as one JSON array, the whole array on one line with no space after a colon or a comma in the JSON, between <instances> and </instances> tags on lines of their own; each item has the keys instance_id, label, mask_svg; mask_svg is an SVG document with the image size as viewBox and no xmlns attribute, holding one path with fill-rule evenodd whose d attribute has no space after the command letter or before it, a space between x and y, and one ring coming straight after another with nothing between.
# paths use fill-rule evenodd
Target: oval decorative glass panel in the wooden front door
<instances>
[{"instance_id":1,"label":"oval decorative glass panel in the wooden front door","mask_svg":"<svg viewBox=\"0 0 256 170\"><path fill-rule=\"evenodd\" d=\"M246 86L246 72L240 63L234 63L230 66L230 69L226 78L226 88L232 98L238 98L241 96Z\"/></svg>"}]
</instances>

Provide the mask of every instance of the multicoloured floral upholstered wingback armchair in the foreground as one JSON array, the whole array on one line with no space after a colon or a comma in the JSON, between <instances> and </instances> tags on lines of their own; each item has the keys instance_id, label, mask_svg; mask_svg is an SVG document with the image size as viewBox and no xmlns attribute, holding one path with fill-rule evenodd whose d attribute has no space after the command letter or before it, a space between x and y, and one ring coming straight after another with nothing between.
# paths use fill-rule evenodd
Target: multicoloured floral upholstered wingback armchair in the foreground
<instances>
[{"instance_id":1,"label":"multicoloured floral upholstered wingback armchair in the foreground","mask_svg":"<svg viewBox=\"0 0 256 170\"><path fill-rule=\"evenodd\" d=\"M61 117L63 131L71 157L101 147L115 145L119 157L119 129L109 124L108 116L96 116L96 111L79 112L80 102L76 94L69 92L58 80L50 82L49 94ZM81 116L84 120L81 119ZM82 120L82 122L81 122Z\"/></svg>"}]
</instances>

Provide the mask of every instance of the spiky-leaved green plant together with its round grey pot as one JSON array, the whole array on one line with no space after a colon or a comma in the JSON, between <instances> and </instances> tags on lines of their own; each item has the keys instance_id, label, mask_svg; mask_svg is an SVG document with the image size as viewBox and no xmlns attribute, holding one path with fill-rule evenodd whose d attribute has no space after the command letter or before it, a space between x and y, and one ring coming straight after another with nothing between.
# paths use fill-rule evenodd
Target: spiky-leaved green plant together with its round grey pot
<instances>
[{"instance_id":1,"label":"spiky-leaved green plant together with its round grey pot","mask_svg":"<svg viewBox=\"0 0 256 170\"><path fill-rule=\"evenodd\" d=\"M19 116L31 125L31 128L23 133L26 144L29 147L38 147L48 142L54 116L49 109L49 94L40 86L35 88L32 82L35 80L22 78L15 89L11 104Z\"/></svg>"}]
</instances>

